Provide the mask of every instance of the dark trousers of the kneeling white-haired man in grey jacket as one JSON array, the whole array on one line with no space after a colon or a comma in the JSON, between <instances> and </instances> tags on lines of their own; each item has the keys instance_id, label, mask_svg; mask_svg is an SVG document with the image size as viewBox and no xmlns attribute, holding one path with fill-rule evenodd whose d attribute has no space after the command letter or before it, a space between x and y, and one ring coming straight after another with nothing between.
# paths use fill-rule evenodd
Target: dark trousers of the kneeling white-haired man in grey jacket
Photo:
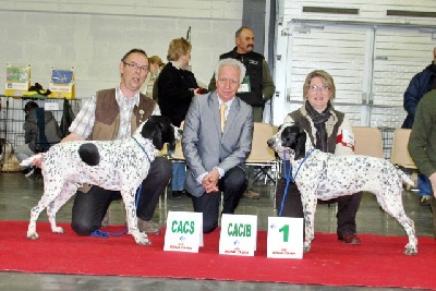
<instances>
[{"instance_id":1,"label":"dark trousers of the kneeling white-haired man in grey jacket","mask_svg":"<svg viewBox=\"0 0 436 291\"><path fill-rule=\"evenodd\" d=\"M246 185L245 171L241 167L234 167L219 180L218 192L205 192L199 197L192 197L194 211L203 213L204 233L209 233L218 227L221 191L223 192L222 214L234 214Z\"/></svg>"}]
</instances>

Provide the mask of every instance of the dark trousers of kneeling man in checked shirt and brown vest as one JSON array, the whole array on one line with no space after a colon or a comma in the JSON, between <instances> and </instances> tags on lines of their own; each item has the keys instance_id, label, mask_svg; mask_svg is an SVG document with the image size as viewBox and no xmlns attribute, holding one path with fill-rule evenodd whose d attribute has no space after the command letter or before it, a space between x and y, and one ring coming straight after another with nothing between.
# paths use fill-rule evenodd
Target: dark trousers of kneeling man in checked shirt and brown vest
<instances>
[{"instance_id":1,"label":"dark trousers of kneeling man in checked shirt and brown vest","mask_svg":"<svg viewBox=\"0 0 436 291\"><path fill-rule=\"evenodd\" d=\"M171 161L157 157L150 165L147 178L142 183L142 192L136 205L136 215L150 220L171 178ZM77 191L74 198L71 227L78 235L89 235L101 227L101 220L112 201L121 199L119 191L92 186L87 193Z\"/></svg>"}]
</instances>

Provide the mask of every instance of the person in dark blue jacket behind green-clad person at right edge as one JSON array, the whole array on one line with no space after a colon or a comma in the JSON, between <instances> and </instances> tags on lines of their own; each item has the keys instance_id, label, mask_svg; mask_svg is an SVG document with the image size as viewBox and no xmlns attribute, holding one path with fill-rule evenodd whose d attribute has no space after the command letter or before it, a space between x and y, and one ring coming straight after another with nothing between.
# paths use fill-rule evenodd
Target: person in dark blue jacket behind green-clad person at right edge
<instances>
[{"instance_id":1,"label":"person in dark blue jacket behind green-clad person at right edge","mask_svg":"<svg viewBox=\"0 0 436 291\"><path fill-rule=\"evenodd\" d=\"M408 116L401 126L402 129L412 129L417 104L432 88L436 88L436 47L433 49L433 62L412 77L404 92L403 106ZM419 173L417 187L420 191L420 204L428 206L432 189L425 174Z\"/></svg>"}]
</instances>

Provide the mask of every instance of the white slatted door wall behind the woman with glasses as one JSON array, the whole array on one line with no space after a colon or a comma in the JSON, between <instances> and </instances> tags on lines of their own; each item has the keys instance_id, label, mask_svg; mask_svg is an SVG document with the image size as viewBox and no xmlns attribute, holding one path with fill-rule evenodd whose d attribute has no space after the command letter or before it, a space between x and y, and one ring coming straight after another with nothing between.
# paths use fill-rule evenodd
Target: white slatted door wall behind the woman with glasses
<instances>
[{"instance_id":1,"label":"white slatted door wall behind the woman with glasses","mask_svg":"<svg viewBox=\"0 0 436 291\"><path fill-rule=\"evenodd\" d=\"M411 77L433 60L436 23L434 17L386 16L386 11L436 12L436 2L279 2L276 64L279 94L275 98L274 123L280 124L291 109L301 106L305 75L323 69L335 78L336 108L347 112L353 125L399 128L405 118L402 108L405 88ZM304 13L303 7L359 9L359 14ZM283 51L286 58L280 58Z\"/></svg>"}]
</instances>

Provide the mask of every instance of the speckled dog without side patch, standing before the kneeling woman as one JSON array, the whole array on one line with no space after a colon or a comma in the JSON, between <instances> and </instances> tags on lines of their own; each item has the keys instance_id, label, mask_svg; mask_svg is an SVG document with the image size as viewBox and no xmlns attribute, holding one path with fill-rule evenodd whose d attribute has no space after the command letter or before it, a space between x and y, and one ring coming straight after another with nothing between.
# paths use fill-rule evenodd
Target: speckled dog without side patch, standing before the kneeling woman
<instances>
[{"instance_id":1,"label":"speckled dog without side patch, standing before the kneeling woman","mask_svg":"<svg viewBox=\"0 0 436 291\"><path fill-rule=\"evenodd\" d=\"M314 239L317 199L328 201L367 191L375 194L382 208L404 228L409 237L404 254L417 254L414 223L405 215L401 197L403 183L413 185L413 182L392 163L368 156L335 156L314 149L307 133L296 123L284 123L267 143L280 156L284 153L286 159L290 159L290 177L301 192L303 204L304 252L311 250Z\"/></svg>"}]
</instances>

